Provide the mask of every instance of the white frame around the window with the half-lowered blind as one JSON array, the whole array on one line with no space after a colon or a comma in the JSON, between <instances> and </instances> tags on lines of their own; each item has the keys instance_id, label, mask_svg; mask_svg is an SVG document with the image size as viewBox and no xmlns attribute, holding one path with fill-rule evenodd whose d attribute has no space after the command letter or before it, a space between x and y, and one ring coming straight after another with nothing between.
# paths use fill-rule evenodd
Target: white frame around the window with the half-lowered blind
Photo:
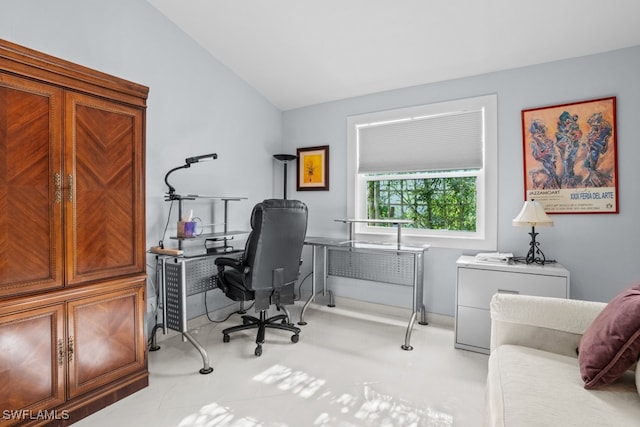
<instances>
[{"instance_id":1,"label":"white frame around the window with the half-lowered blind","mask_svg":"<svg viewBox=\"0 0 640 427\"><path fill-rule=\"evenodd\" d=\"M358 129L372 123L398 122L409 117L441 115L455 111L481 109L483 112L483 166L476 171L429 173L430 177L468 176L477 174L476 231L449 231L403 228L402 242L411 245L428 244L432 247L476 249L495 251L498 229L498 125L497 96L425 104L415 107L360 114L347 118L347 216L366 218L367 181L365 174L358 174ZM389 179L392 174L384 178ZM398 177L412 179L411 175ZM377 177L376 177L377 179ZM356 239L393 242L396 231L389 227L374 227L367 223L356 224Z\"/></svg>"}]
</instances>

